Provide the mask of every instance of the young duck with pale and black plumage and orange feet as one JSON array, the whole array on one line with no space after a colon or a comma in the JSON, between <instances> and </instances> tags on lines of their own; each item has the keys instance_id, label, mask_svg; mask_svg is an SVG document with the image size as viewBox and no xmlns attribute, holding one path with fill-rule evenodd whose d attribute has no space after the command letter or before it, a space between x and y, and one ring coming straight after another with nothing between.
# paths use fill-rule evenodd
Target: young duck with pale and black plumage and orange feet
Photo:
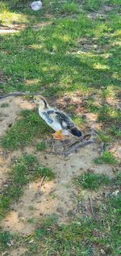
<instances>
[{"instance_id":1,"label":"young duck with pale and black plumage and orange feet","mask_svg":"<svg viewBox=\"0 0 121 256\"><path fill-rule=\"evenodd\" d=\"M41 95L35 95L33 98L35 104L39 105L40 117L51 127L55 133L52 134L56 140L65 141L65 136L73 134L73 136L81 137L82 133L70 119L69 115L56 108L48 105L47 100Z\"/></svg>"}]
</instances>

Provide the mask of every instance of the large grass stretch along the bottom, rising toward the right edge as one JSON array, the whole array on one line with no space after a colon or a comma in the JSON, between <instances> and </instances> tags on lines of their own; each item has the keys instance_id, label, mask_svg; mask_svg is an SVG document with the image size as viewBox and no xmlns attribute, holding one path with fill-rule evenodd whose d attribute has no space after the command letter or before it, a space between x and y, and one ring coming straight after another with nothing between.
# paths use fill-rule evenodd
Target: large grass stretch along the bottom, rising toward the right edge
<instances>
[{"instance_id":1,"label":"large grass stretch along the bottom, rising toward the right edge","mask_svg":"<svg viewBox=\"0 0 121 256\"><path fill-rule=\"evenodd\" d=\"M59 225L56 216L45 218L35 229L30 244L27 240L27 252L24 256L34 254L66 256L90 256L94 247L105 251L106 255L119 255L120 250L120 210L121 197L104 199L97 208L97 220L85 216L76 218L68 225Z\"/></svg>"}]
</instances>

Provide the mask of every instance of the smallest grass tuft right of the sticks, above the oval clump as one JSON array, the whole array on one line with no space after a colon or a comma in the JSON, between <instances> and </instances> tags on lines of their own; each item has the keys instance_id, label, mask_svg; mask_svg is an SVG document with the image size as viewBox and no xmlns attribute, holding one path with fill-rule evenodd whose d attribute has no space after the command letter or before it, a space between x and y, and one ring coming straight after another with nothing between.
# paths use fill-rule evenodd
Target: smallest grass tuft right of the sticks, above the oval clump
<instances>
[{"instance_id":1,"label":"smallest grass tuft right of the sticks, above the oval clump","mask_svg":"<svg viewBox=\"0 0 121 256\"><path fill-rule=\"evenodd\" d=\"M113 156L113 154L111 152L104 151L102 156L94 159L94 163L97 165L101 165L102 163L115 165L117 163L117 160L115 159L115 157Z\"/></svg>"}]
</instances>

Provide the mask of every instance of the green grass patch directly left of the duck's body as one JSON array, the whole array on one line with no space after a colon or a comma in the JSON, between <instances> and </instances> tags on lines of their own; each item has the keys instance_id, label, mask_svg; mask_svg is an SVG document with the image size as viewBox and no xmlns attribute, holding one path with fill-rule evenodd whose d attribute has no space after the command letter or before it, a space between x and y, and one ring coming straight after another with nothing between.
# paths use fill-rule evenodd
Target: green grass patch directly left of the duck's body
<instances>
[{"instance_id":1,"label":"green grass patch directly left of the duck's body","mask_svg":"<svg viewBox=\"0 0 121 256\"><path fill-rule=\"evenodd\" d=\"M51 128L40 118L35 111L22 111L21 119L2 137L1 145L4 149L14 150L30 145L35 137L42 137L49 133Z\"/></svg>"}]
</instances>

